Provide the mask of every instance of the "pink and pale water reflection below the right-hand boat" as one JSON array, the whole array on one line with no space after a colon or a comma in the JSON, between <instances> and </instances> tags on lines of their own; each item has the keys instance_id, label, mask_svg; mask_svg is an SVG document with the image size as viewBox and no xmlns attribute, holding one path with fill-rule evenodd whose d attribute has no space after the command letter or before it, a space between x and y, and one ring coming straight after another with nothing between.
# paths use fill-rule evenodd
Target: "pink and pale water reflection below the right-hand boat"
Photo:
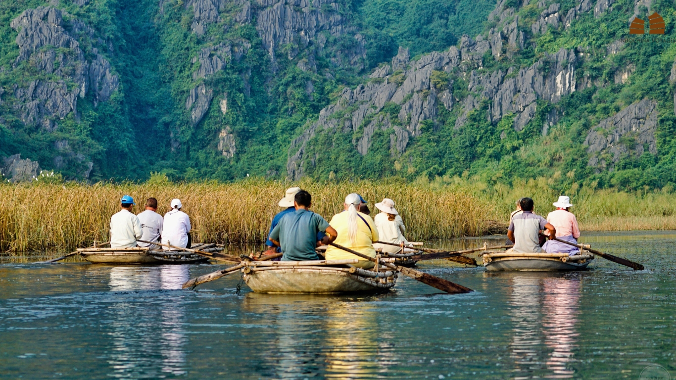
<instances>
[{"instance_id":1,"label":"pink and pale water reflection below the right-hand boat","mask_svg":"<svg viewBox=\"0 0 676 380\"><path fill-rule=\"evenodd\" d=\"M529 273L513 275L510 288L514 379L573 377L580 280ZM548 350L542 350L543 341Z\"/></svg>"}]
</instances>

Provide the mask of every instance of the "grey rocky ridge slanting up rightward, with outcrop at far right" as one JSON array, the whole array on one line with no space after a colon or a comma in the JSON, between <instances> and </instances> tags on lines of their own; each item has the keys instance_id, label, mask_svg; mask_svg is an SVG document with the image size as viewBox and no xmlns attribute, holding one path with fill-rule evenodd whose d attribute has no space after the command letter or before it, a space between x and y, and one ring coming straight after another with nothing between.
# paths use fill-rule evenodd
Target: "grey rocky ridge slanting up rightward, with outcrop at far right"
<instances>
[{"instance_id":1,"label":"grey rocky ridge slanting up rightward, with outcrop at far right","mask_svg":"<svg viewBox=\"0 0 676 380\"><path fill-rule=\"evenodd\" d=\"M423 55L414 61L409 59L406 49L400 48L390 63L374 70L361 85L343 89L339 100L324 108L318 120L292 141L287 177L300 179L315 165L317 153L308 147L318 133L353 135L355 153L366 156L373 133L383 130L389 134L391 156L398 158L410 148L410 141L420 136L426 120L439 127L442 109L456 114L453 124L456 130L473 128L466 124L468 116L486 109L487 122L496 125L510 116L512 128L518 133L535 122L539 107L546 105L549 111L537 118L541 123L537 128L546 136L566 113L564 108L557 107L561 99L592 86L606 87L608 82L598 79L594 82L588 72L580 71L591 59L583 46L541 53L529 65L523 65L523 60L519 62L516 58L537 49L539 36L548 31L551 34L569 30L579 18L589 17L586 15L591 14L592 9L593 17L600 18L611 5L612 1L607 0L598 0L596 5L583 0L564 11L560 3L540 0L537 8L535 4L528 5L530 9L539 9L539 16L528 25L520 19L523 9L503 0L489 15L492 26L487 32L474 39L463 36L458 47ZM621 41L615 41L604 53L617 55L624 48ZM485 67L487 60L493 62L494 68ZM673 80L676 64L674 67L672 82L676 81ZM614 83L627 82L634 71L633 64L617 68ZM449 79L435 82L431 80L435 75ZM458 91L454 82L466 83L466 88ZM456 91L452 87L456 87ZM396 116L383 111L387 103L399 109ZM592 126L584 141L589 168L598 173L606 168L612 170L612 163L621 158L637 158L644 151L656 154L657 119L656 102L644 99ZM503 132L500 138L504 136Z\"/></svg>"}]
</instances>

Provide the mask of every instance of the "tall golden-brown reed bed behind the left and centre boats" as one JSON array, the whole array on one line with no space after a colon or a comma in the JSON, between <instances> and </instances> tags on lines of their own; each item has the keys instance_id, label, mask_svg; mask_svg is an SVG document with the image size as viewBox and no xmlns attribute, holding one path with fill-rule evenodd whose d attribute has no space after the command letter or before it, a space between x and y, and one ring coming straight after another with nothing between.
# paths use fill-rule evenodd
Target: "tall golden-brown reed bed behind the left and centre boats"
<instances>
[{"instance_id":1,"label":"tall golden-brown reed bed behind the left and centre boats","mask_svg":"<svg viewBox=\"0 0 676 380\"><path fill-rule=\"evenodd\" d=\"M169 210L179 198L193 225L193 241L213 243L261 242L277 202L287 187L298 185L312 194L312 210L331 220L343 210L343 199L360 193L373 204L383 197L397 202L410 239L481 235L483 202L462 189L439 189L402 182L352 181L290 184L251 180L237 183L97 183L95 185L40 184L0 186L0 250L28 252L73 250L94 240L109 240L110 216L128 194L137 201L133 212L143 211L148 197L158 199L158 212Z\"/></svg>"}]
</instances>

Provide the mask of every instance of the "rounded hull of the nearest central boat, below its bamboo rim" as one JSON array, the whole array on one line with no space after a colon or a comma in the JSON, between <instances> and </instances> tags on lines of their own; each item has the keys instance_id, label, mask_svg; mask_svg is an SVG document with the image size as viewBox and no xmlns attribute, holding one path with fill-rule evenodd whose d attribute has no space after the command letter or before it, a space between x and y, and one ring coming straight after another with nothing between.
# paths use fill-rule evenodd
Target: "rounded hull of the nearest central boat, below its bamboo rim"
<instances>
[{"instance_id":1,"label":"rounded hull of the nearest central boat, below its bamboo rim","mask_svg":"<svg viewBox=\"0 0 676 380\"><path fill-rule=\"evenodd\" d=\"M294 267L254 270L244 275L244 281L256 293L379 293L393 287L396 277L381 283L339 268Z\"/></svg>"}]
</instances>

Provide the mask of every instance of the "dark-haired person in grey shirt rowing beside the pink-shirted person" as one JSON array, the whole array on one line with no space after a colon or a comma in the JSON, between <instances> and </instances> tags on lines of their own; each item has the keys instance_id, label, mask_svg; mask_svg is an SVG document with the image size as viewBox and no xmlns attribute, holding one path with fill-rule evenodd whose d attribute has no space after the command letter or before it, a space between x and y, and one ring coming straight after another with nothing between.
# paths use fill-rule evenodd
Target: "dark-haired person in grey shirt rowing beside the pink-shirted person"
<instances>
[{"instance_id":1,"label":"dark-haired person in grey shirt rowing beside the pink-shirted person","mask_svg":"<svg viewBox=\"0 0 676 380\"><path fill-rule=\"evenodd\" d=\"M545 252L539 244L539 233L547 229L549 239L556 237L556 229L547 222L547 219L533 214L533 199L521 199L521 214L512 216L507 231L507 237L514 242L512 252L519 254L539 254Z\"/></svg>"}]
</instances>

